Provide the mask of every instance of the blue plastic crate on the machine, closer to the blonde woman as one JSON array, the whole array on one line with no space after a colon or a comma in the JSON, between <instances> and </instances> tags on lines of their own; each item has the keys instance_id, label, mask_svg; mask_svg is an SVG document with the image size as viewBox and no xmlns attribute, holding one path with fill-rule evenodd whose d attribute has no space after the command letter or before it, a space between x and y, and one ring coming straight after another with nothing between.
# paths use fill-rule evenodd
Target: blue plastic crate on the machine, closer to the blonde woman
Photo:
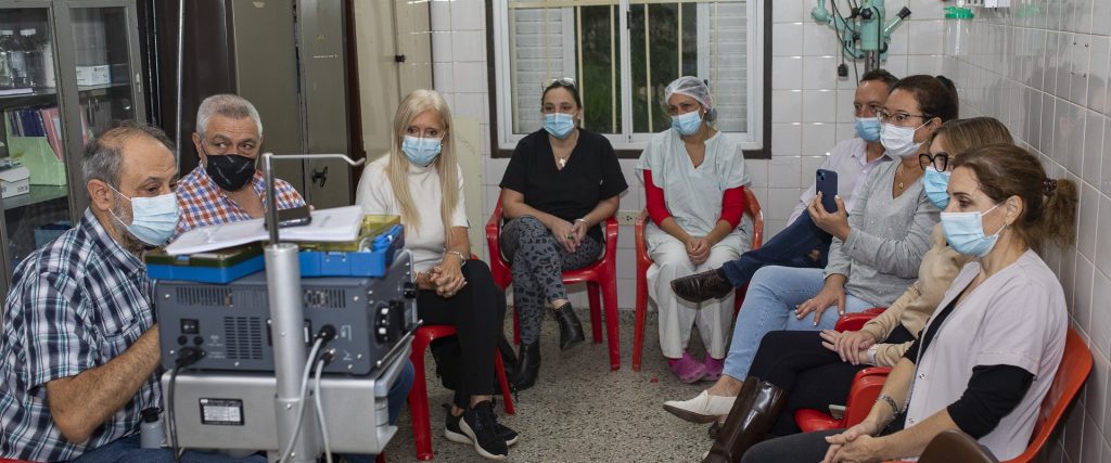
<instances>
[{"instance_id":1,"label":"blue plastic crate on the machine, closer to the blonde woman","mask_svg":"<svg viewBox=\"0 0 1111 463\"><path fill-rule=\"evenodd\" d=\"M383 276L404 246L402 225L374 238L368 251L301 251L301 276Z\"/></svg>"}]
</instances>

